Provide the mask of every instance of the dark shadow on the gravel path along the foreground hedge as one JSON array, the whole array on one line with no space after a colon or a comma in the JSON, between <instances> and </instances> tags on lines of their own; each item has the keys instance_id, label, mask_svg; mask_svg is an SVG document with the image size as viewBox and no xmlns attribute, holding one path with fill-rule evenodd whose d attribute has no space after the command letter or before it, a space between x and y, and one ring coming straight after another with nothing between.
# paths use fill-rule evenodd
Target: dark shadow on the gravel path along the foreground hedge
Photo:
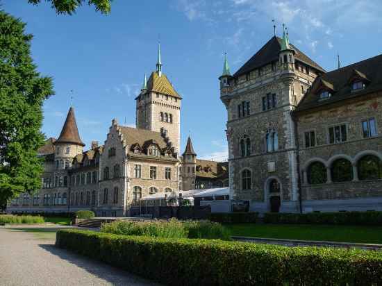
<instances>
[{"instance_id":1,"label":"dark shadow on the gravel path along the foreground hedge","mask_svg":"<svg viewBox=\"0 0 382 286\"><path fill-rule=\"evenodd\" d=\"M65 249L60 249L52 244L39 244L38 246L49 251L49 253L53 255L57 255L63 260L67 260L69 263L75 264L77 267L85 269L90 274L108 281L108 283L111 283L112 285L159 285L150 280L129 274L122 269L111 267L103 262L91 260L85 256L78 255Z\"/></svg>"}]
</instances>

